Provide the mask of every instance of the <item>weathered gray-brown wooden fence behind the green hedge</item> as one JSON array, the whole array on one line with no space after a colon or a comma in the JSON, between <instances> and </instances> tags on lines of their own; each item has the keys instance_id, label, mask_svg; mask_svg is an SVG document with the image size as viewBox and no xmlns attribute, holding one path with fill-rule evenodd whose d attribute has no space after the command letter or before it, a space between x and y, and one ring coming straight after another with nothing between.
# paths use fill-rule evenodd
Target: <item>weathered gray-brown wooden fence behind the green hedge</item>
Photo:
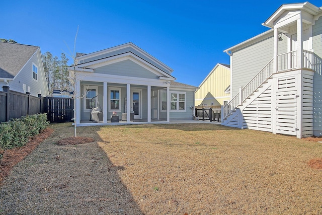
<instances>
[{"instance_id":1,"label":"weathered gray-brown wooden fence behind the green hedge","mask_svg":"<svg viewBox=\"0 0 322 215\"><path fill-rule=\"evenodd\" d=\"M41 94L35 97L31 96L30 93L11 91L8 86L3 86L3 91L0 91L0 122L42 113L42 102Z\"/></svg>"}]
</instances>

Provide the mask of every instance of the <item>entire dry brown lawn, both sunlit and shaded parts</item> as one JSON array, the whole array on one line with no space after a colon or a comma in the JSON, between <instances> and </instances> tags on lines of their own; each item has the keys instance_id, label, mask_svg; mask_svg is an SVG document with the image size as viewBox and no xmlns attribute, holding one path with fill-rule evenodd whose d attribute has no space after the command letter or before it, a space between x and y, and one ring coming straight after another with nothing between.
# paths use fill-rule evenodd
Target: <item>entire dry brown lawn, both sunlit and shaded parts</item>
<instances>
[{"instance_id":1,"label":"entire dry brown lawn, both sunlit and shaded parts","mask_svg":"<svg viewBox=\"0 0 322 215\"><path fill-rule=\"evenodd\" d=\"M15 166L2 214L322 214L322 144L216 124L68 124Z\"/></svg>"}]
</instances>

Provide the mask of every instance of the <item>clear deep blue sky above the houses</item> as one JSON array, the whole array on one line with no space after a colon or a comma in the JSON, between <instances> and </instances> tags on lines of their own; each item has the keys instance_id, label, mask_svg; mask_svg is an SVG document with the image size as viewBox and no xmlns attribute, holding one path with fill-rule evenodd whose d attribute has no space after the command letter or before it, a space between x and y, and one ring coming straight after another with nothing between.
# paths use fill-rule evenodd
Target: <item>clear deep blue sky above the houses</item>
<instances>
[{"instance_id":1,"label":"clear deep blue sky above the houses","mask_svg":"<svg viewBox=\"0 0 322 215\"><path fill-rule=\"evenodd\" d=\"M4 1L0 38L70 59L79 26L76 52L132 42L173 68L178 82L199 86L217 63L229 64L223 50L269 30L261 24L288 3L301 2Z\"/></svg>"}]
</instances>

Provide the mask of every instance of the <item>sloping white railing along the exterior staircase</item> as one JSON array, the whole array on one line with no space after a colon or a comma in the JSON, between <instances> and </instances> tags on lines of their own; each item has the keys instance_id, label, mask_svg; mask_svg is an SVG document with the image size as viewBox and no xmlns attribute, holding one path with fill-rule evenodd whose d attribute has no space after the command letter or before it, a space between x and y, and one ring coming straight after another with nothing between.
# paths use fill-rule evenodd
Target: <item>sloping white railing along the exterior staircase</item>
<instances>
[{"instance_id":1,"label":"sloping white railing along the exterior staircase","mask_svg":"<svg viewBox=\"0 0 322 215\"><path fill-rule=\"evenodd\" d=\"M222 108L222 119L226 118L238 105L241 105L259 86L273 74L273 59L271 59L254 78L241 88L239 92Z\"/></svg>"}]
</instances>

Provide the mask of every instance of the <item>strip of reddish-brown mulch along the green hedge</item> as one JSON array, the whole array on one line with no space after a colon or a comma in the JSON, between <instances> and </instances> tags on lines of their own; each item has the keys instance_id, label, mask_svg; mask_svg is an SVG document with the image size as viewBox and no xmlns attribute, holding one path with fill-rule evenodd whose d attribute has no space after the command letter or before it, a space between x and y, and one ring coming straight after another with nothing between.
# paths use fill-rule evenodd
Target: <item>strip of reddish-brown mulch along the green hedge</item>
<instances>
[{"instance_id":1,"label":"strip of reddish-brown mulch along the green hedge","mask_svg":"<svg viewBox=\"0 0 322 215\"><path fill-rule=\"evenodd\" d=\"M47 137L49 137L54 129L45 128L36 136L30 138L27 144L20 148L6 150L3 158L0 160L0 183L9 174L12 168L29 155L37 146Z\"/></svg>"}]
</instances>

